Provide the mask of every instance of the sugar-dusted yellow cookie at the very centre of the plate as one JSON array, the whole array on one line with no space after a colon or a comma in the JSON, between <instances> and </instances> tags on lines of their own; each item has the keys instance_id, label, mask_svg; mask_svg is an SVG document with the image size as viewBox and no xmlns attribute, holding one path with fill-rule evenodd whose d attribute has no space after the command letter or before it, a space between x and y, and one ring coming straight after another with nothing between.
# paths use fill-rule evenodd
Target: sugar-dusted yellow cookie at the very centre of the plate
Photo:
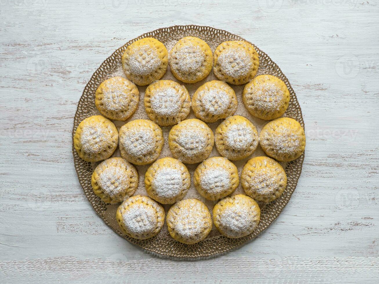
<instances>
[{"instance_id":1,"label":"sugar-dusted yellow cookie at the very centre of the plate","mask_svg":"<svg viewBox=\"0 0 379 284\"><path fill-rule=\"evenodd\" d=\"M186 119L173 126L168 135L172 155L185 164L195 164L210 155L215 137L199 119Z\"/></svg>"}]
</instances>

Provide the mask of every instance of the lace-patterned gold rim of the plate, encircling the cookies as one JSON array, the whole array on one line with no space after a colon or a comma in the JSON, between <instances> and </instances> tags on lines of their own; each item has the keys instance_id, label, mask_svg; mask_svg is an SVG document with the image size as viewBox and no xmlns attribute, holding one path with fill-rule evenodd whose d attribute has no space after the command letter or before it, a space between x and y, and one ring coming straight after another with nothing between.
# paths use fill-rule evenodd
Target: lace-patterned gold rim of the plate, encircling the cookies
<instances>
[{"instance_id":1,"label":"lace-patterned gold rim of the plate, encircling the cookies","mask_svg":"<svg viewBox=\"0 0 379 284\"><path fill-rule=\"evenodd\" d=\"M172 26L168 28L160 28L149 33L144 33L131 41L128 41L125 45L118 48L112 53L105 61L100 65L100 67L94 72L89 82L86 84L83 94L78 102L77 111L74 117L74 126L72 130L72 137L75 135L75 131L79 123L91 116L96 114L96 106L94 104L94 97L97 87L105 80L106 75L117 68L117 63L121 64L121 55L125 48L132 44L132 42L142 39L144 37L154 37L163 43L166 41L179 40L185 36L197 36L205 40L206 42L211 41L233 41L233 40L243 40L240 36L231 34L225 30L218 30L212 27L206 26L196 26L196 25L186 25L186 26ZM279 77L287 86L288 91L290 91L290 104L285 113L285 116L291 117L297 120L301 126L304 128L304 120L301 113L301 108L299 106L296 94L293 91L287 77L282 73L279 66L269 58L266 53L252 44L257 50L260 58L260 66L257 75L261 75L262 71L270 71L275 76ZM261 72L260 72L261 71ZM265 72L264 72L265 73ZM212 230L208 237L196 244L185 245L183 243L177 242L172 239L169 235L152 237L147 240L137 240L125 236L121 233L119 228L110 223L110 218L106 216L107 206L109 204L103 203L93 192L91 187L91 175L92 166L90 162L85 162L79 158L75 151L74 145L72 145L72 153L74 155L74 165L77 172L77 176L81 187L91 203L92 207L96 213L103 219L103 221L110 226L117 234L119 234L124 239L129 242L144 248L148 253L154 255L175 258L175 259L202 259L215 256L216 254L222 254L227 251L233 250L245 244L249 240L254 239L258 234L265 230L280 214L283 208L287 205L294 192L298 179L301 175L302 164L304 161L304 153L296 160L288 162L285 166L285 172L287 174L287 187L283 194L276 200L266 203L261 208L261 220L258 227L253 233L246 237L238 239L229 239L218 233L217 230Z\"/></svg>"}]
</instances>

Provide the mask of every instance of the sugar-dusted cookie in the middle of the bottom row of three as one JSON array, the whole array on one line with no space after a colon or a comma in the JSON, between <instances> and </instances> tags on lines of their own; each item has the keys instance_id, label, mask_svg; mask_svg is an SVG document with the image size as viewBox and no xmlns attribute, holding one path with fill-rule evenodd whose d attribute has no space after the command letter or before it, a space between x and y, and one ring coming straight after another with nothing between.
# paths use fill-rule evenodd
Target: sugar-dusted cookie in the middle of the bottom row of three
<instances>
[{"instance_id":1,"label":"sugar-dusted cookie in the middle of the bottom row of three","mask_svg":"<svg viewBox=\"0 0 379 284\"><path fill-rule=\"evenodd\" d=\"M188 245L204 240L212 229L211 214L207 206L197 199L175 203L166 220L171 237Z\"/></svg>"}]
</instances>

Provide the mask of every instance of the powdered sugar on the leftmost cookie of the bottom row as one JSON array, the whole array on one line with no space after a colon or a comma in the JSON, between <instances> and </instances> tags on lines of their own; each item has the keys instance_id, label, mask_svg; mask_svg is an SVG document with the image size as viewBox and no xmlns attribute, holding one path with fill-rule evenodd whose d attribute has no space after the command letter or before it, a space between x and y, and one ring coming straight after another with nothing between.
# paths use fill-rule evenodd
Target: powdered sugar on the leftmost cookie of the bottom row
<instances>
[{"instance_id":1,"label":"powdered sugar on the leftmost cookie of the bottom row","mask_svg":"<svg viewBox=\"0 0 379 284\"><path fill-rule=\"evenodd\" d=\"M151 233L157 227L157 213L145 204L131 203L122 214L125 228L132 234Z\"/></svg>"}]
</instances>

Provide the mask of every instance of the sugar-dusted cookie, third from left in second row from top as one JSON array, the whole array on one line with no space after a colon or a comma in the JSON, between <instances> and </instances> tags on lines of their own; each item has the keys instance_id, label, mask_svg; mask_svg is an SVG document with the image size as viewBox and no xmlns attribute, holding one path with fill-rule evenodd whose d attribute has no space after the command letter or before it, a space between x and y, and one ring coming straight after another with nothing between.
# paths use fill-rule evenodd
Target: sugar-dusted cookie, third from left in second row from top
<instances>
[{"instance_id":1,"label":"sugar-dusted cookie, third from left in second row from top","mask_svg":"<svg viewBox=\"0 0 379 284\"><path fill-rule=\"evenodd\" d=\"M192 109L204 122L216 122L233 115L237 110L237 97L227 83L209 81L200 86L192 97Z\"/></svg>"}]
</instances>

